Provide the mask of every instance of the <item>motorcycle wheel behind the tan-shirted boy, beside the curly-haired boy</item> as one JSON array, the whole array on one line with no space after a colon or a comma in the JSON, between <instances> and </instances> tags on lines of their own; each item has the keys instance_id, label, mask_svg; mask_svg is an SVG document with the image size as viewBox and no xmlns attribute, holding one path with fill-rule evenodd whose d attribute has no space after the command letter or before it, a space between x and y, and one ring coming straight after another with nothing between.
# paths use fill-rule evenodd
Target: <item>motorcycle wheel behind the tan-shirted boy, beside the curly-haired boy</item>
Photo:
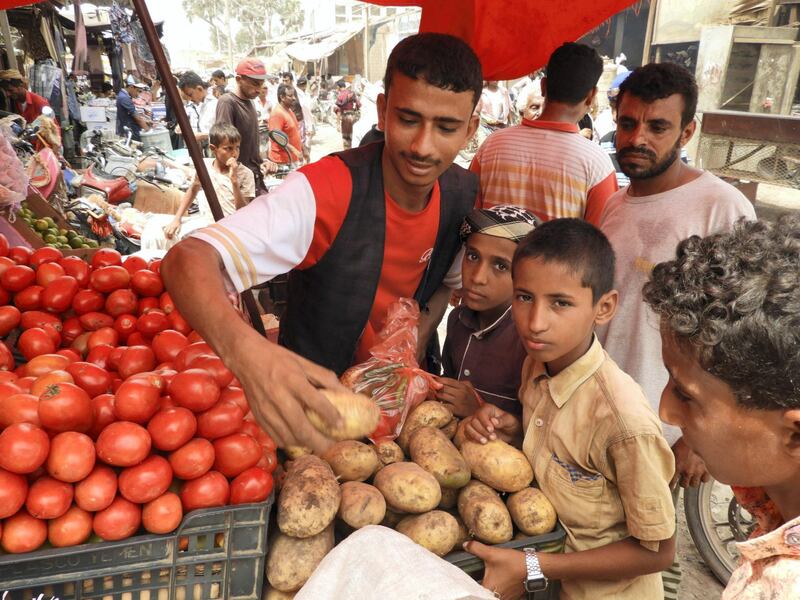
<instances>
[{"instance_id":1,"label":"motorcycle wheel behind the tan-shirted boy, beside the curly-haired boy","mask_svg":"<svg viewBox=\"0 0 800 600\"><path fill-rule=\"evenodd\" d=\"M684 489L683 505L697 551L714 576L726 585L739 563L736 542L748 538L755 522L739 506L731 488L713 479Z\"/></svg>"}]
</instances>

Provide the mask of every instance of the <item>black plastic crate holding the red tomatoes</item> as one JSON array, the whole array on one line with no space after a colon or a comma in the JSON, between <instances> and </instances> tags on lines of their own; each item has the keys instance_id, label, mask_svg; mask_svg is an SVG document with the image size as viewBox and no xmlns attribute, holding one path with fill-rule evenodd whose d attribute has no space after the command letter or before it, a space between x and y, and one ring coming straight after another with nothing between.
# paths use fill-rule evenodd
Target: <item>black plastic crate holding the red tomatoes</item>
<instances>
[{"instance_id":1,"label":"black plastic crate holding the red tomatoes","mask_svg":"<svg viewBox=\"0 0 800 600\"><path fill-rule=\"evenodd\" d=\"M193 511L170 535L0 556L0 598L258 600L273 501Z\"/></svg>"}]
</instances>

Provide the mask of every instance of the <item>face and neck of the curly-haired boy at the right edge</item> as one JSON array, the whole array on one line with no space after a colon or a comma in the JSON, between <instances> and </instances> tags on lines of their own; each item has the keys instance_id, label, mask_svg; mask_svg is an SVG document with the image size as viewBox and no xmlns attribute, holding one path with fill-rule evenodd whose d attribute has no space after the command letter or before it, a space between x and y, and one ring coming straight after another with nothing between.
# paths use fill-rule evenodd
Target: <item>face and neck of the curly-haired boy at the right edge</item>
<instances>
[{"instance_id":1,"label":"face and neck of the curly-haired boy at the right edge","mask_svg":"<svg viewBox=\"0 0 800 600\"><path fill-rule=\"evenodd\" d=\"M703 369L665 327L661 355L670 377L659 416L681 428L683 440L705 461L714 479L744 487L796 480L800 469L790 447L798 434L792 434L793 420L786 419L783 410L739 406L730 386Z\"/></svg>"}]
</instances>

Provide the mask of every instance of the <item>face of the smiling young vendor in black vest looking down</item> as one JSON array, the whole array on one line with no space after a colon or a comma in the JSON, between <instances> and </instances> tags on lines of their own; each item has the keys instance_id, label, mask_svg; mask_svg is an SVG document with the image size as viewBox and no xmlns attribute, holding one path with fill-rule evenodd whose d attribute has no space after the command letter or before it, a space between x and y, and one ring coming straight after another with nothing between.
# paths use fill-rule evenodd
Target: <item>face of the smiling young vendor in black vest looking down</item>
<instances>
[{"instance_id":1,"label":"face of the smiling young vendor in black vest looking down","mask_svg":"<svg viewBox=\"0 0 800 600\"><path fill-rule=\"evenodd\" d=\"M473 108L472 91L443 90L396 73L388 96L378 96L387 182L427 191L475 133L478 117Z\"/></svg>"}]
</instances>

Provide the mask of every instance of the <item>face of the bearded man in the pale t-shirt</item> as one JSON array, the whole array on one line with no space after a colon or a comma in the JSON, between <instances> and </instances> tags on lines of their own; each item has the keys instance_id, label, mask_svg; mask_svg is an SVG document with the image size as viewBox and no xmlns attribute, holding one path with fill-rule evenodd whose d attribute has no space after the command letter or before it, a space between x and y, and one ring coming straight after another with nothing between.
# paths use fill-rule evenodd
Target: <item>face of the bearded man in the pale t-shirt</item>
<instances>
[{"instance_id":1,"label":"face of the bearded man in the pale t-shirt","mask_svg":"<svg viewBox=\"0 0 800 600\"><path fill-rule=\"evenodd\" d=\"M617 107L617 161L631 179L651 179L664 173L680 156L694 133L694 121L681 126L683 97L647 103L630 93Z\"/></svg>"}]
</instances>

